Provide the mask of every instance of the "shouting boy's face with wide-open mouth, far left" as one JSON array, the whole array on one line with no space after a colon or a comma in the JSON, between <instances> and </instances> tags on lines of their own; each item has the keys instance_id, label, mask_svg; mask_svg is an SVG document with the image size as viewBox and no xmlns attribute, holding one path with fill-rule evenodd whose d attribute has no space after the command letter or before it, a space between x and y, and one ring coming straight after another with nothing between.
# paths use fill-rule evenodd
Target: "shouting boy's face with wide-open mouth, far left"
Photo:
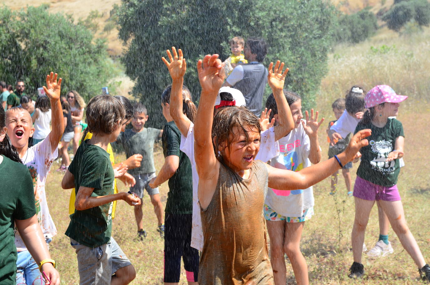
<instances>
[{"instance_id":1,"label":"shouting boy's face with wide-open mouth, far left","mask_svg":"<svg viewBox=\"0 0 430 285\"><path fill-rule=\"evenodd\" d=\"M7 134L16 149L28 146L28 138L33 136L34 127L27 111L6 112Z\"/></svg>"}]
</instances>

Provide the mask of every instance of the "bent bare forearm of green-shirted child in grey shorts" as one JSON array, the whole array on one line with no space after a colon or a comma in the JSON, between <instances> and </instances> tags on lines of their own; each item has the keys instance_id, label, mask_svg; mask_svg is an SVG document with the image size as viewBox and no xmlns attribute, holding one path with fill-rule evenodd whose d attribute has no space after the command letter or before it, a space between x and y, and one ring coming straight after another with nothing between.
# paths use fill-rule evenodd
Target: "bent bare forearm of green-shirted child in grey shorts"
<instances>
[{"instance_id":1,"label":"bent bare forearm of green-shirted child in grey shorts","mask_svg":"<svg viewBox=\"0 0 430 285\"><path fill-rule=\"evenodd\" d=\"M92 197L91 194L93 191L94 191L94 188L83 187L83 186L79 187L79 190L76 194L76 200L75 200L76 210L83 211L83 210L101 206L116 200L124 200L130 206L140 205L139 197L134 198L133 195L126 192L119 192L117 194L112 194L112 195ZM132 204L133 202L137 204Z\"/></svg>"}]
</instances>

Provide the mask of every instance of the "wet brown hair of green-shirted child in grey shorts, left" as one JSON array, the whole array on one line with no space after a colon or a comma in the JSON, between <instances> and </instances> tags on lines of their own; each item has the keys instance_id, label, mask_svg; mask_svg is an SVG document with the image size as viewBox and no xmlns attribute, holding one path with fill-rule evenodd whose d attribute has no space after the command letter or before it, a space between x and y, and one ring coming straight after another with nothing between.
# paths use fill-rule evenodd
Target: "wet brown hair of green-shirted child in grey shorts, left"
<instances>
[{"instance_id":1,"label":"wet brown hair of green-shirted child in grey shorts, left","mask_svg":"<svg viewBox=\"0 0 430 285\"><path fill-rule=\"evenodd\" d=\"M120 100L110 95L92 97L86 107L87 132L93 134L111 134L119 127L118 121L122 121L126 116Z\"/></svg>"}]
</instances>

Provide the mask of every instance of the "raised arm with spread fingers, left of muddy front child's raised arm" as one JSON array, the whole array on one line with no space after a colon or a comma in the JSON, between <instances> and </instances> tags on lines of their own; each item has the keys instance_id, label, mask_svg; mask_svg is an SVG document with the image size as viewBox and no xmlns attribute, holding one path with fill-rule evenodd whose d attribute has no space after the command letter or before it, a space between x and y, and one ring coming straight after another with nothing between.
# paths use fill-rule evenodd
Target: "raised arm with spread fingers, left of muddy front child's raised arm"
<instances>
[{"instance_id":1,"label":"raised arm with spread fingers, left of muddy front child's raised arm","mask_svg":"<svg viewBox=\"0 0 430 285\"><path fill-rule=\"evenodd\" d=\"M170 115L182 135L187 137L191 121L182 110L182 86L184 84L184 74L187 70L187 63L185 62L181 49L178 50L178 54L175 47L172 46L172 53L173 56L170 51L167 50L167 57L170 62L168 62L164 57L161 58L167 66L167 69L169 69L170 76L172 77L172 90L170 91Z\"/></svg>"}]
</instances>

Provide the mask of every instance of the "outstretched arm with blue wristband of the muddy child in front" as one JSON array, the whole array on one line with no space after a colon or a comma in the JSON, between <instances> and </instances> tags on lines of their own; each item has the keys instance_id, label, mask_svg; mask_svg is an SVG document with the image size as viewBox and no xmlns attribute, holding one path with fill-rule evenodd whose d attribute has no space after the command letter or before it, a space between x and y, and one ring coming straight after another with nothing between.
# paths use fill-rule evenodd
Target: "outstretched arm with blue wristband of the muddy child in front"
<instances>
[{"instance_id":1,"label":"outstretched arm with blue wristband of the muddy child in front","mask_svg":"<svg viewBox=\"0 0 430 285\"><path fill-rule=\"evenodd\" d=\"M360 130L353 136L345 151L337 155L342 165L352 161L362 146L369 144L365 138L370 136L370 134L371 130L366 129ZM266 166L269 171L268 186L279 190L306 189L329 177L341 168L336 158L330 158L298 172L274 168L268 164Z\"/></svg>"}]
</instances>

